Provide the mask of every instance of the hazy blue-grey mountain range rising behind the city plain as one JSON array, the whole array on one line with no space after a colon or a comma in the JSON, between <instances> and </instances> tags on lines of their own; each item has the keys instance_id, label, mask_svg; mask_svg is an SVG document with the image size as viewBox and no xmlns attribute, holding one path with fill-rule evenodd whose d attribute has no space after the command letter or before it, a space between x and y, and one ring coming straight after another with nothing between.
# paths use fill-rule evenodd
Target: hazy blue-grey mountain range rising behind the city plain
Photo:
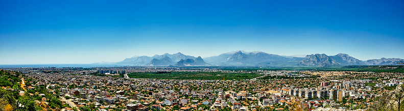
<instances>
[{"instance_id":1,"label":"hazy blue-grey mountain range rising behind the city plain","mask_svg":"<svg viewBox=\"0 0 404 111\"><path fill-rule=\"evenodd\" d=\"M262 51L232 51L219 56L202 59L186 56L180 52L165 53L153 57L140 56L127 58L116 64L131 64L135 66L251 66L251 67L331 67L348 65L397 65L402 59L373 59L361 61L348 54L339 53L335 56L326 54L311 54L302 56L279 56Z\"/></svg>"}]
</instances>

